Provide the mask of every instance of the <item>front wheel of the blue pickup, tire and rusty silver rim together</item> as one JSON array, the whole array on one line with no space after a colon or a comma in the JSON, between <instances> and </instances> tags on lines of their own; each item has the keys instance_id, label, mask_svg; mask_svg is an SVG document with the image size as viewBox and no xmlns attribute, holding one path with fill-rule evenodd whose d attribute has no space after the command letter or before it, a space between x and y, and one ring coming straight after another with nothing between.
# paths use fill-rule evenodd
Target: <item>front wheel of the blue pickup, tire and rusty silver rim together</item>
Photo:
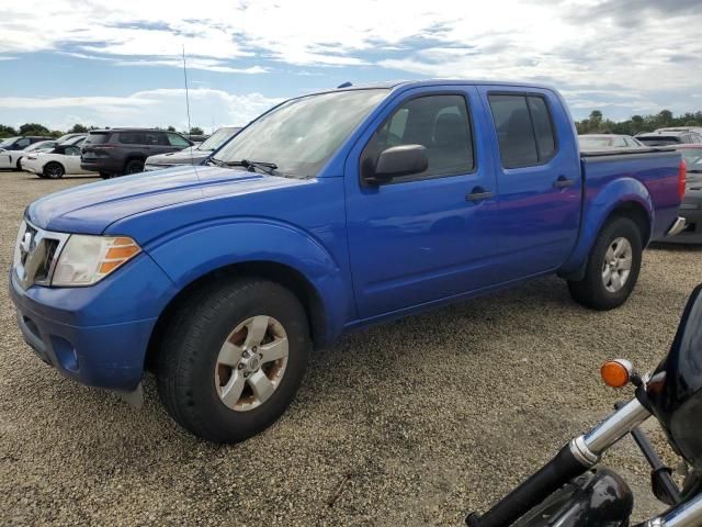
<instances>
[{"instance_id":1,"label":"front wheel of the blue pickup, tire and rusty silver rim together","mask_svg":"<svg viewBox=\"0 0 702 527\"><path fill-rule=\"evenodd\" d=\"M287 289L258 279L216 281L171 321L158 357L159 395L193 434L242 441L285 412L310 348L305 310Z\"/></svg>"}]
</instances>

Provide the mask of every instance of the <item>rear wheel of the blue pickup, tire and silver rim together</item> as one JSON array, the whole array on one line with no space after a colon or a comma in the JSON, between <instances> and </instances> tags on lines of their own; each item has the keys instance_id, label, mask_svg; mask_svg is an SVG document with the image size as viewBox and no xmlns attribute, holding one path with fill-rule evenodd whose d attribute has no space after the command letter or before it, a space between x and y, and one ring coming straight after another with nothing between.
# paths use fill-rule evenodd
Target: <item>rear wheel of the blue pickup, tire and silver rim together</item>
<instances>
[{"instance_id":1,"label":"rear wheel of the blue pickup, tire and silver rim together","mask_svg":"<svg viewBox=\"0 0 702 527\"><path fill-rule=\"evenodd\" d=\"M585 278L568 281L570 295L593 310L619 307L636 285L642 254L642 235L636 223L627 217L613 218L590 250Z\"/></svg>"}]
</instances>

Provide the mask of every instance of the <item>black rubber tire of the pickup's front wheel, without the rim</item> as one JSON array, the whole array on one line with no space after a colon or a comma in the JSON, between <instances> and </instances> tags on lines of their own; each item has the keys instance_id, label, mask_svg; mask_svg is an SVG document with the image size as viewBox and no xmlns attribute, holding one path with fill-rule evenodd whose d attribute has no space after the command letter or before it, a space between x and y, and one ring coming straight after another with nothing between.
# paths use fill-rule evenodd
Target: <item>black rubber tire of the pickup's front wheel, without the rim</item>
<instances>
[{"instance_id":1,"label":"black rubber tire of the pickup's front wheel, without the rim","mask_svg":"<svg viewBox=\"0 0 702 527\"><path fill-rule=\"evenodd\" d=\"M287 362L267 401L237 412L225 405L215 386L218 355L237 325L258 315L273 317L284 328ZM305 310L287 289L260 279L217 280L194 293L171 318L159 346L158 392L171 417L196 436L239 442L285 412L303 380L310 349Z\"/></svg>"}]
</instances>

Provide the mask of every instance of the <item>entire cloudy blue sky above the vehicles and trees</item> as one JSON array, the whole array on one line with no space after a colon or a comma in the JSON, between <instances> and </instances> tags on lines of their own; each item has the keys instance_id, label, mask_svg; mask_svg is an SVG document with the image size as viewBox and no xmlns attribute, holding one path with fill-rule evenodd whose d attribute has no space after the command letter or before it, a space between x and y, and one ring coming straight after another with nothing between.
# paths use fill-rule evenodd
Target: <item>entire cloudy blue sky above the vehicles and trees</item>
<instances>
[{"instance_id":1,"label":"entire cloudy blue sky above the vehicles and trees","mask_svg":"<svg viewBox=\"0 0 702 527\"><path fill-rule=\"evenodd\" d=\"M465 78L559 89L575 119L702 110L702 0L22 0L0 123L242 125L290 97Z\"/></svg>"}]
</instances>

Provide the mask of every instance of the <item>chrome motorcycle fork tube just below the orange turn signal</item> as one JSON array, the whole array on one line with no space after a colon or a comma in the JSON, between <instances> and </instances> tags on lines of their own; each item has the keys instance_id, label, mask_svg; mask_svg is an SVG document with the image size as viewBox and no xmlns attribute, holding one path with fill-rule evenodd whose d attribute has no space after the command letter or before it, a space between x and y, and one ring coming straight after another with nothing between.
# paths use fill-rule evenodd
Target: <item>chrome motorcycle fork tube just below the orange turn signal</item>
<instances>
[{"instance_id":1,"label":"chrome motorcycle fork tube just below the orange turn signal","mask_svg":"<svg viewBox=\"0 0 702 527\"><path fill-rule=\"evenodd\" d=\"M570 441L570 451L582 464L593 466L599 461L602 452L648 417L650 412L637 399L632 399L586 435Z\"/></svg>"}]
</instances>

